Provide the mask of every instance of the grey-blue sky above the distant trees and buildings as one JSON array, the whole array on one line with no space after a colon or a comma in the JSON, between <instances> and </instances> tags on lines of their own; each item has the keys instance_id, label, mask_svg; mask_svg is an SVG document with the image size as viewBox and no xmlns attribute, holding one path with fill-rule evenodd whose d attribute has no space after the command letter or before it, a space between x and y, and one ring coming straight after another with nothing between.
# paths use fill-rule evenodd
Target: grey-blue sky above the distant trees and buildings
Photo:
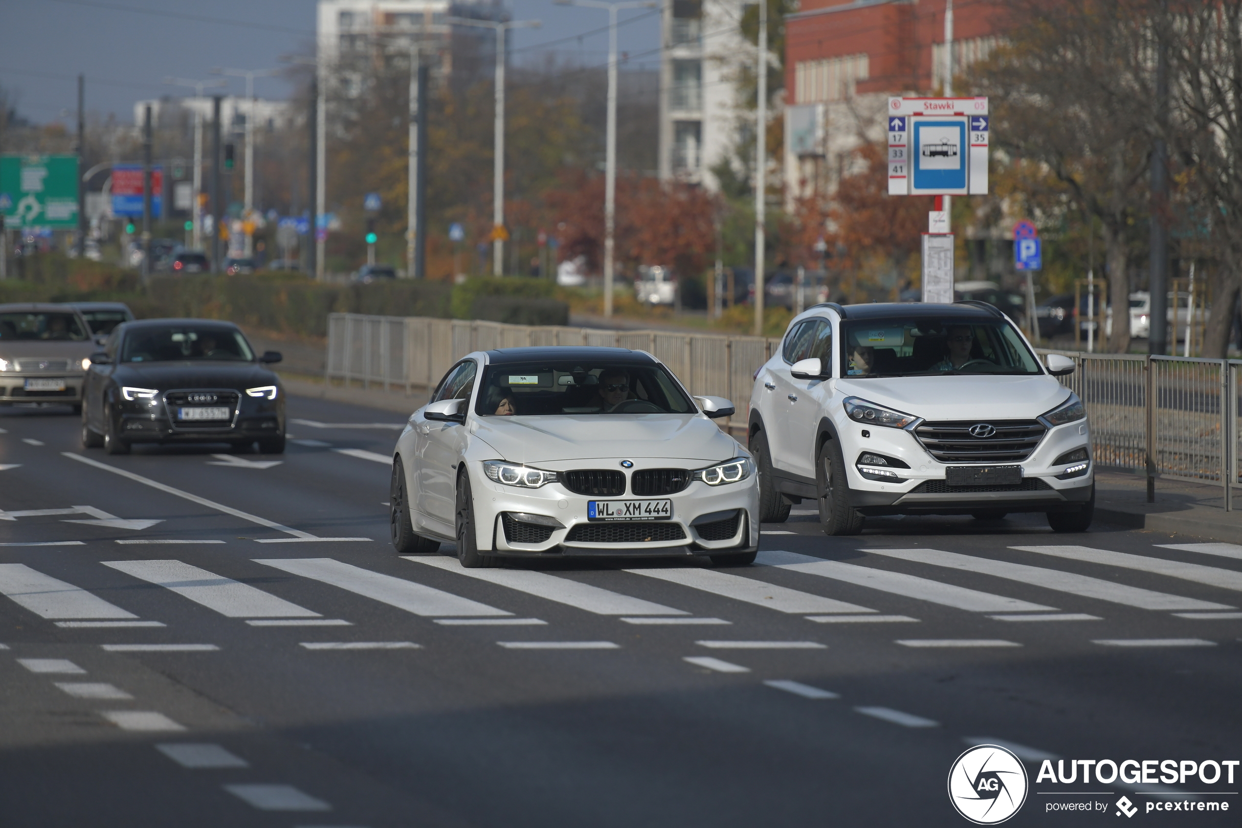
<instances>
[{"instance_id":1,"label":"grey-blue sky above the distant trees and buildings","mask_svg":"<svg viewBox=\"0 0 1242 828\"><path fill-rule=\"evenodd\" d=\"M35 123L75 122L79 72L86 74L87 110L129 122L135 101L193 94L165 84L166 77L215 79L212 67L281 67L282 55L310 55L314 45L315 0L5 0L2 5L0 86L16 94L17 112ZM514 31L514 63L542 62L549 55L579 66L607 61L602 9L559 6L553 0L508 0L508 6L515 20L542 22L539 29ZM632 56L630 66L656 68L657 10L622 10L619 19L617 48ZM229 93L245 93L245 78L227 79ZM291 92L282 78L255 79L260 97L282 99Z\"/></svg>"}]
</instances>

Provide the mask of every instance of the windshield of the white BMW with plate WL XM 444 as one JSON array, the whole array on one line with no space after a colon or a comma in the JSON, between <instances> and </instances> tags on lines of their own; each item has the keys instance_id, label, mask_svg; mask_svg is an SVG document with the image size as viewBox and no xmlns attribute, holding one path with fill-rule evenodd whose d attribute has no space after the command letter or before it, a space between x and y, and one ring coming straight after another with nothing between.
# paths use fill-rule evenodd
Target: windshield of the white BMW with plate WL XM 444
<instances>
[{"instance_id":1,"label":"windshield of the white BMW with plate WL XM 444","mask_svg":"<svg viewBox=\"0 0 1242 828\"><path fill-rule=\"evenodd\" d=\"M483 416L696 413L662 365L522 362L491 365L474 412Z\"/></svg>"}]
</instances>

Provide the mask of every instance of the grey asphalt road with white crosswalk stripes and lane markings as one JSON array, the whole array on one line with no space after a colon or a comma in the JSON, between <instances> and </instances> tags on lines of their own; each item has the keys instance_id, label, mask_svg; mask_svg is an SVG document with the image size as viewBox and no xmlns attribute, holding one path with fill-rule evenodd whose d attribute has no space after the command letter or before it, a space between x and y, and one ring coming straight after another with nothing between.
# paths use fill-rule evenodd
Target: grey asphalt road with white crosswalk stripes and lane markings
<instances>
[{"instance_id":1,"label":"grey asphalt road with white crosswalk stripes and lane markings","mask_svg":"<svg viewBox=\"0 0 1242 828\"><path fill-rule=\"evenodd\" d=\"M388 541L399 416L288 416L282 457L108 457L0 413L0 824L964 826L985 742L1025 760L1009 824L1237 824L1146 808L1242 808L1242 773L1036 775L1242 758L1242 547L795 508L763 566L467 575Z\"/></svg>"}]
</instances>

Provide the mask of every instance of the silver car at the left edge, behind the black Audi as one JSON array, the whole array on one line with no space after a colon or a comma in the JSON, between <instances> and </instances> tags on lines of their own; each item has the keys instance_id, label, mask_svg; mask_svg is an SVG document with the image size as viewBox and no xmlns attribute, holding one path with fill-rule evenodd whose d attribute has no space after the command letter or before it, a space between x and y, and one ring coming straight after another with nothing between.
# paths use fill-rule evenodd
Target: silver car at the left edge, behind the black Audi
<instances>
[{"instance_id":1,"label":"silver car at the left edge, behind the black Audi","mask_svg":"<svg viewBox=\"0 0 1242 828\"><path fill-rule=\"evenodd\" d=\"M0 403L58 402L81 412L94 349L91 328L71 305L0 305Z\"/></svg>"}]
</instances>

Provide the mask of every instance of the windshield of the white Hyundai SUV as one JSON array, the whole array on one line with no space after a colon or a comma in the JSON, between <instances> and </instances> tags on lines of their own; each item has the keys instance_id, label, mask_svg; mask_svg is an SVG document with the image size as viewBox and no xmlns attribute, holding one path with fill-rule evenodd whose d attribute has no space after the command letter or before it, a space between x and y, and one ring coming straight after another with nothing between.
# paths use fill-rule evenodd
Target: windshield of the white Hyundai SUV
<instances>
[{"instance_id":1,"label":"windshield of the white Hyundai SUV","mask_svg":"<svg viewBox=\"0 0 1242 828\"><path fill-rule=\"evenodd\" d=\"M866 319L841 328L842 376L1043 372L1004 319Z\"/></svg>"}]
</instances>

